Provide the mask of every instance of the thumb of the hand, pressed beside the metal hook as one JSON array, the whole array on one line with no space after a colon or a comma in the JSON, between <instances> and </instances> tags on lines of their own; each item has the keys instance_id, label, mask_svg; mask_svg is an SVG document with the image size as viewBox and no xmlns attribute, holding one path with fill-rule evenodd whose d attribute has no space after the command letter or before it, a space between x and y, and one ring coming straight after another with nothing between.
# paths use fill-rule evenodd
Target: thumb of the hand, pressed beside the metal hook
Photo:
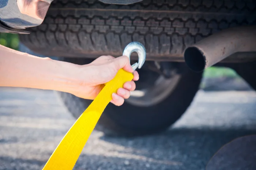
<instances>
[{"instance_id":1,"label":"thumb of the hand, pressed beside the metal hook","mask_svg":"<svg viewBox=\"0 0 256 170\"><path fill-rule=\"evenodd\" d=\"M120 70L121 68L123 68L125 71L133 72L132 66L127 56L121 56L121 57L115 58L113 60L113 64L117 70Z\"/></svg>"}]
</instances>

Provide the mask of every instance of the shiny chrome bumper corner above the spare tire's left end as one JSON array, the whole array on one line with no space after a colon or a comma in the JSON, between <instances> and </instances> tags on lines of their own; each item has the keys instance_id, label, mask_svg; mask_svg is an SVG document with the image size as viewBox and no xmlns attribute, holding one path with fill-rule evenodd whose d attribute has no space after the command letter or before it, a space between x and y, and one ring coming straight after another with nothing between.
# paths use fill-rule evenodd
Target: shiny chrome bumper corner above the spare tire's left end
<instances>
[{"instance_id":1,"label":"shiny chrome bumper corner above the spare tire's left end","mask_svg":"<svg viewBox=\"0 0 256 170\"><path fill-rule=\"evenodd\" d=\"M0 0L0 20L8 27L25 29L42 23L53 0Z\"/></svg>"}]
</instances>

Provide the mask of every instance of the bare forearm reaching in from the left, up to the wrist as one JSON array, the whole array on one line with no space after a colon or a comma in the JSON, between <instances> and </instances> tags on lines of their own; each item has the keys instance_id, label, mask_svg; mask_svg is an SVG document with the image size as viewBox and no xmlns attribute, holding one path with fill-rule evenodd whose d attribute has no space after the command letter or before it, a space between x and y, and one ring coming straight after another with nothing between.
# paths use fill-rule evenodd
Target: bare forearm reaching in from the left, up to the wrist
<instances>
[{"instance_id":1,"label":"bare forearm reaching in from the left, up to the wrist","mask_svg":"<svg viewBox=\"0 0 256 170\"><path fill-rule=\"evenodd\" d=\"M0 45L0 86L70 91L79 84L79 66L39 58Z\"/></svg>"}]
</instances>

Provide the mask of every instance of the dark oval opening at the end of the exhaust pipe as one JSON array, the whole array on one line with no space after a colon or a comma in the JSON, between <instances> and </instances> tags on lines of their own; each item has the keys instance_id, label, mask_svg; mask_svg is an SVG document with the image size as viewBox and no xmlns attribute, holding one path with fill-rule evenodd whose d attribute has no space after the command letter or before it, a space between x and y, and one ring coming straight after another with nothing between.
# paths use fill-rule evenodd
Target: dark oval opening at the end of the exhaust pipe
<instances>
[{"instance_id":1,"label":"dark oval opening at the end of the exhaust pipe","mask_svg":"<svg viewBox=\"0 0 256 170\"><path fill-rule=\"evenodd\" d=\"M203 53L196 47L188 47L184 52L185 63L195 71L201 72L206 66L206 60Z\"/></svg>"}]
</instances>

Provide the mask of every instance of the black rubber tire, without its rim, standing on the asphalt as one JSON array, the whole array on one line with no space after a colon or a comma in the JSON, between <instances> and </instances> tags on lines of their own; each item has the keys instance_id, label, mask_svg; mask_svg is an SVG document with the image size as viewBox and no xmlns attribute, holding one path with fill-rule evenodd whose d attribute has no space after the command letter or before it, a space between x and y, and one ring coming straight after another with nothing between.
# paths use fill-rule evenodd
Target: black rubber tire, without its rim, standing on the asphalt
<instances>
[{"instance_id":1,"label":"black rubber tire, without its rim, standing on the asphalt","mask_svg":"<svg viewBox=\"0 0 256 170\"><path fill-rule=\"evenodd\" d=\"M64 61L73 63L79 62L79 60L81 59L76 59L76 61L70 58L64 59ZM103 131L106 135L125 136L152 134L166 130L187 110L199 89L202 78L202 73L189 70L185 63L178 64L180 73L177 72L168 79L170 82L175 82L175 84L170 84L173 86L172 91L161 101L141 106L138 102L132 103L125 100L124 104L119 107L109 103L95 129ZM143 75L140 75L140 79L142 78ZM149 78L151 80L153 76L149 76ZM140 84L139 81L136 86ZM143 82L142 80L141 83L143 84ZM79 118L91 103L91 100L78 98L65 92L57 92L57 94L75 118ZM148 101L153 99L150 98Z\"/></svg>"}]
</instances>

